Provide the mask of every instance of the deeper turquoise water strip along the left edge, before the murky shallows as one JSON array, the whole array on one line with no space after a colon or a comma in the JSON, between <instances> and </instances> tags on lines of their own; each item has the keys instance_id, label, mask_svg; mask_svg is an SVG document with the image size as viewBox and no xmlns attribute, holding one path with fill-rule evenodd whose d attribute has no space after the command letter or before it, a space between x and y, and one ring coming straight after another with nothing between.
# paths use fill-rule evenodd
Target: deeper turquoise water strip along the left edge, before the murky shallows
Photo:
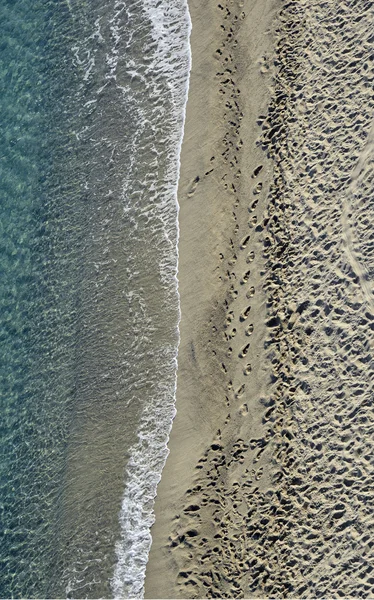
<instances>
[{"instance_id":1,"label":"deeper turquoise water strip along the left edge, before the murky shallows","mask_svg":"<svg viewBox=\"0 0 374 600\"><path fill-rule=\"evenodd\" d=\"M3 2L0 22L0 596L46 597L74 401L75 265L65 252L75 236L64 202L74 189L56 173L72 152L56 92L72 83L55 31L69 33L47 3Z\"/></svg>"}]
</instances>

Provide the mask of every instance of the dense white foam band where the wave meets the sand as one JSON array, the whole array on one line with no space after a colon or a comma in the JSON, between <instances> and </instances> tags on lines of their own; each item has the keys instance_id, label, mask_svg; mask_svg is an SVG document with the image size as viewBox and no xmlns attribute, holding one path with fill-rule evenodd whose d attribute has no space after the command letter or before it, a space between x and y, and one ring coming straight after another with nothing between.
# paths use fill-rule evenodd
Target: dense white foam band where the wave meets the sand
<instances>
[{"instance_id":1,"label":"dense white foam band where the wave meets the sand","mask_svg":"<svg viewBox=\"0 0 374 600\"><path fill-rule=\"evenodd\" d=\"M145 16L152 24L152 60L140 69L129 64L129 73L153 86L151 94L157 96L158 79L167 78L175 122L174 132L165 143L170 147L169 164L162 193L150 184L152 205L163 222L163 239L169 246L164 264L160 265L161 279L178 298L178 212L177 187L180 172L180 152L185 123L185 110L191 67L189 37L191 20L186 0L142 0ZM151 50L150 50L151 51ZM111 73L115 77L118 56L112 52ZM157 158L155 158L157 161ZM170 224L170 211L174 205L174 223ZM148 205L147 207L148 208ZM126 205L124 206L126 210ZM145 211L147 212L147 211ZM143 207L144 214L144 207ZM175 229L175 235L170 227ZM174 259L170 257L173 256ZM180 311L179 311L180 319ZM169 369L164 382L159 383L153 402L144 409L138 428L138 441L130 449L131 458L127 466L126 489L120 512L121 539L116 545L112 590L115 598L142 598L148 554L151 546L150 529L154 522L154 499L169 450L168 438L175 416L175 392L177 369L177 344L164 348L160 364Z\"/></svg>"}]
</instances>

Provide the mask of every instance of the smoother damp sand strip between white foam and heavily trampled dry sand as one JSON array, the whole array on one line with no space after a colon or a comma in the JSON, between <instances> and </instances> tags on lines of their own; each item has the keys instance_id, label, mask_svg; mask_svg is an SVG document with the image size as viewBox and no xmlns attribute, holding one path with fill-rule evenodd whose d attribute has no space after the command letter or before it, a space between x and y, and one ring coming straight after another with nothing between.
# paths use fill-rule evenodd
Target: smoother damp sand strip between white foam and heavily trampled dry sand
<instances>
[{"instance_id":1,"label":"smoother damp sand strip between white foam and heavily trampled dry sand","mask_svg":"<svg viewBox=\"0 0 374 600\"><path fill-rule=\"evenodd\" d=\"M199 569L199 555L216 543L212 507L218 486L225 493L216 453L231 452L238 440L261 428L259 398L269 375L263 351L256 350L266 335L265 298L261 241L252 233L271 178L271 165L256 143L256 120L266 112L269 96L264 56L271 51L274 6L274 1L226 0L210 7L189 2L192 70L178 190L177 414L155 503L146 598L203 597L207 586L214 588L214 575L204 576L204 588L204 577L197 581L191 573ZM248 198L256 208L248 206ZM240 331L229 323L235 317ZM245 386L253 390L249 401ZM243 471L239 458L231 477ZM216 468L218 478L207 466ZM234 583L229 577L226 591L235 594Z\"/></svg>"}]
</instances>

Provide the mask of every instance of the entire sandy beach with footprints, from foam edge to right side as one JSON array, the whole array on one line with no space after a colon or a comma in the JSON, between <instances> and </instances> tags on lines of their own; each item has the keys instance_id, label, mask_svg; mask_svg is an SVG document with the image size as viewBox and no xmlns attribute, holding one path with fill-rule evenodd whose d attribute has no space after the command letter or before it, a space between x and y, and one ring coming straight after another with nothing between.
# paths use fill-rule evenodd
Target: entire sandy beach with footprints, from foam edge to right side
<instances>
[{"instance_id":1,"label":"entire sandy beach with footprints, from foam edge to right side","mask_svg":"<svg viewBox=\"0 0 374 600\"><path fill-rule=\"evenodd\" d=\"M190 11L178 412L145 597L370 598L374 5Z\"/></svg>"}]
</instances>

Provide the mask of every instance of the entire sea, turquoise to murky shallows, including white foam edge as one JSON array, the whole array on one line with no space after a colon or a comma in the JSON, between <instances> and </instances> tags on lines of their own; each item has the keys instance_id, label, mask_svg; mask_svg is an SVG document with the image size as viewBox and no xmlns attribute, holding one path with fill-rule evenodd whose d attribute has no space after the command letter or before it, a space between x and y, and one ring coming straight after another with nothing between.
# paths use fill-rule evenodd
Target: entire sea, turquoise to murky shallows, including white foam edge
<instances>
[{"instance_id":1,"label":"entire sea, turquoise to murky shallows, including white foam edge","mask_svg":"<svg viewBox=\"0 0 374 600\"><path fill-rule=\"evenodd\" d=\"M0 0L0 597L141 597L174 415L185 0Z\"/></svg>"}]
</instances>

